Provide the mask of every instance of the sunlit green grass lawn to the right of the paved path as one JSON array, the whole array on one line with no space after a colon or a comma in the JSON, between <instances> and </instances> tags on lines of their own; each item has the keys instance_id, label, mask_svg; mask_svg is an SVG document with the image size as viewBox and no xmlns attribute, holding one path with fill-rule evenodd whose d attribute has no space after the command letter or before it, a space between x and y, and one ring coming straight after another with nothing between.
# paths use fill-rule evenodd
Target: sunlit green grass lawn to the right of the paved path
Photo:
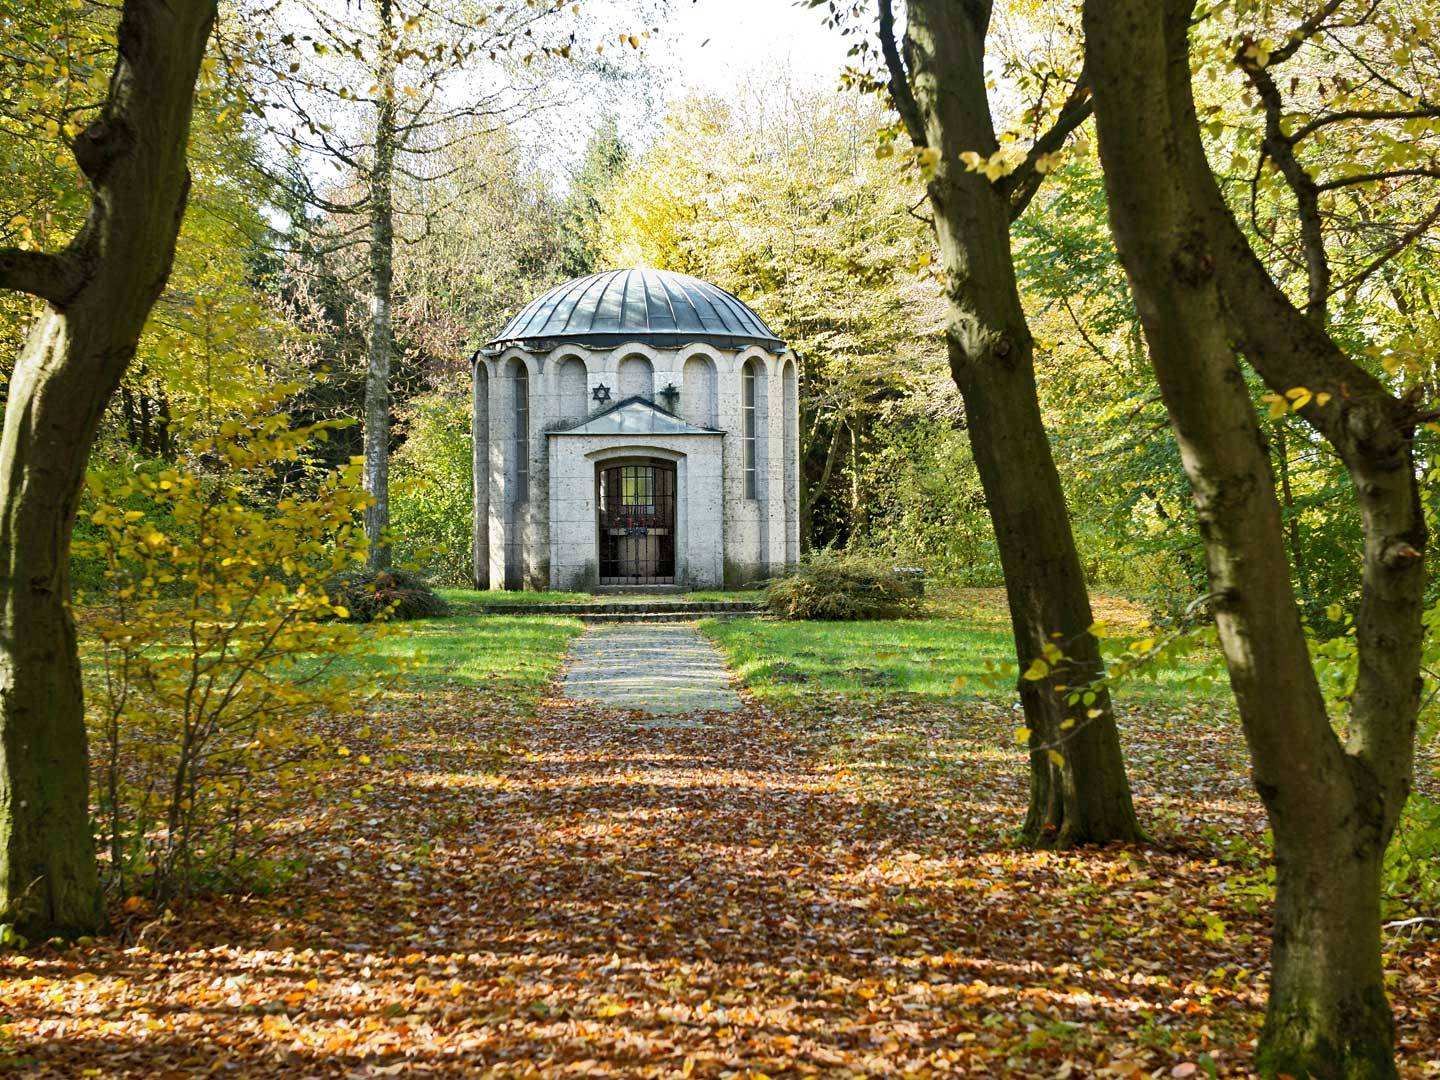
<instances>
[{"instance_id":1,"label":"sunlit green grass lawn to the right of the paved path","mask_svg":"<svg viewBox=\"0 0 1440 1080\"><path fill-rule=\"evenodd\" d=\"M1097 603L1100 618L1120 629L1143 613L1125 602ZM1014 671L986 680L986 662L1014 664L1014 641L998 589L943 590L932 618L891 622L770 622L711 619L703 631L762 700L796 704L815 691L883 700L1011 700ZM1194 701L1204 658L1153 677L1135 678L1122 700L1181 706ZM960 683L963 680L963 684Z\"/></svg>"}]
</instances>

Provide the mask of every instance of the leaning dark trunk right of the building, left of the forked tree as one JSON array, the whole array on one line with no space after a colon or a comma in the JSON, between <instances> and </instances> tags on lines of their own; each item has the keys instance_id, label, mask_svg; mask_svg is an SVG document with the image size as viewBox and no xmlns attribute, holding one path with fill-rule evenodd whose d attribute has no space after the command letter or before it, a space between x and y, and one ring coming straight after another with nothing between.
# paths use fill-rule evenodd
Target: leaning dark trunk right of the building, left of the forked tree
<instances>
[{"instance_id":1,"label":"leaning dark trunk right of the building, left of the forked tree","mask_svg":"<svg viewBox=\"0 0 1440 1080\"><path fill-rule=\"evenodd\" d=\"M1024 834L1045 847L1142 838L1109 694L1068 703L1058 685L1103 672L1084 570L1035 390L1034 343L1011 261L1011 203L960 154L996 148L985 89L988 6L912 0L906 49L916 141L937 154L930 181L946 271L950 372L1005 572L1015 658L1064 660L1020 680L1031 730ZM1051 654L1053 655L1053 654Z\"/></svg>"}]
</instances>

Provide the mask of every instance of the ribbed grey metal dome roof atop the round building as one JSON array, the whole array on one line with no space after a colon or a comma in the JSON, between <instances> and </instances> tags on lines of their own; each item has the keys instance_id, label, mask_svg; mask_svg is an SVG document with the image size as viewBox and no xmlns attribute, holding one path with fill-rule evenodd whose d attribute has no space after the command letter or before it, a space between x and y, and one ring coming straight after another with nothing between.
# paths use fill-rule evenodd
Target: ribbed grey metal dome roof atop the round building
<instances>
[{"instance_id":1,"label":"ribbed grey metal dome roof atop the round building","mask_svg":"<svg viewBox=\"0 0 1440 1080\"><path fill-rule=\"evenodd\" d=\"M550 348L562 341L602 348L626 341L785 347L759 315L724 289L688 274L655 269L605 271L557 285L530 301L488 347Z\"/></svg>"}]
</instances>

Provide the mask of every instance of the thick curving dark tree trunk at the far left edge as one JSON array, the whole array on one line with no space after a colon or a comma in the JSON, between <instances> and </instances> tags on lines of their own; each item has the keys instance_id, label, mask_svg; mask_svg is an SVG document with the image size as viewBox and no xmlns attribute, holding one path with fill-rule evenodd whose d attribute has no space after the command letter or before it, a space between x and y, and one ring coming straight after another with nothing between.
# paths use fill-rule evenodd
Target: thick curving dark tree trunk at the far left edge
<instances>
[{"instance_id":1,"label":"thick curving dark tree trunk at the far left edge","mask_svg":"<svg viewBox=\"0 0 1440 1080\"><path fill-rule=\"evenodd\" d=\"M46 301L0 436L0 922L36 939L104 926L88 808L69 550L101 415L170 274L194 81L215 3L127 0L101 117L75 140L89 216L58 255L0 252Z\"/></svg>"}]
</instances>

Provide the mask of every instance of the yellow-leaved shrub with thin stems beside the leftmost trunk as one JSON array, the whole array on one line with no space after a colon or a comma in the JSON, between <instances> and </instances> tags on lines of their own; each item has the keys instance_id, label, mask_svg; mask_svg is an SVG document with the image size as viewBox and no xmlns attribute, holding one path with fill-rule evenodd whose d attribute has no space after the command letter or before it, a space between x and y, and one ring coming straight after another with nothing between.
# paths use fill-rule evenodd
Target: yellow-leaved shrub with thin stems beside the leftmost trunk
<instances>
[{"instance_id":1,"label":"yellow-leaved shrub with thin stems beside the leftmost trunk","mask_svg":"<svg viewBox=\"0 0 1440 1080\"><path fill-rule=\"evenodd\" d=\"M354 468L276 490L333 426L274 412L292 389L189 428L174 467L91 478L95 801L109 884L125 894L279 870L266 851L294 795L337 762L311 721L353 713L367 687L333 672L366 636L324 588L363 557L366 495Z\"/></svg>"}]
</instances>

